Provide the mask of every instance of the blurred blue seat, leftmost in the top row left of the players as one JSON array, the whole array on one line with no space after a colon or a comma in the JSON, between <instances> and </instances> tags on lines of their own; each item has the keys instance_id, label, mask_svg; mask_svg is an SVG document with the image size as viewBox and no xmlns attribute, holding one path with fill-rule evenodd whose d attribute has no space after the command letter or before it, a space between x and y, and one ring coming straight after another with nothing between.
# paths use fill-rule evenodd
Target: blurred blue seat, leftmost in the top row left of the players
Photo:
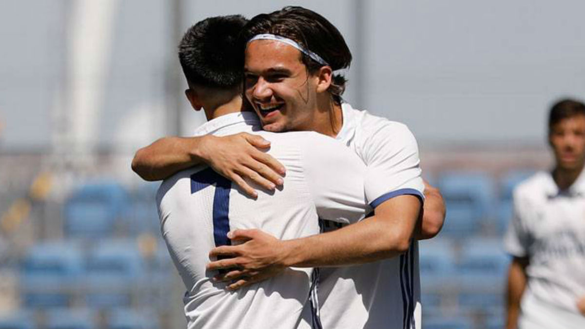
<instances>
[{"instance_id":1,"label":"blurred blue seat, leftmost in the top row left of the players","mask_svg":"<svg viewBox=\"0 0 585 329\"><path fill-rule=\"evenodd\" d=\"M114 181L87 183L64 206L64 231L69 237L104 238L128 205L128 195Z\"/></svg>"}]
</instances>

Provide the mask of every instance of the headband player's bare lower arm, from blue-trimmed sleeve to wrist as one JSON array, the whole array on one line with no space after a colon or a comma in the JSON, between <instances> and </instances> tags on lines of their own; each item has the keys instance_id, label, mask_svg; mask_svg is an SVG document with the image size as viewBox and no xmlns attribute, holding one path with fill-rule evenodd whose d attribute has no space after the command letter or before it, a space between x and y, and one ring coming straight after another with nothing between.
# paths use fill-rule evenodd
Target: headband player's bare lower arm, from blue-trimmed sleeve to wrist
<instances>
[{"instance_id":1,"label":"headband player's bare lower arm, from blue-trimmed sleeve to wrist","mask_svg":"<svg viewBox=\"0 0 585 329\"><path fill-rule=\"evenodd\" d=\"M376 215L352 225L307 238L283 241L287 266L346 266L392 258L408 250L420 202L397 197L378 205Z\"/></svg>"}]
</instances>

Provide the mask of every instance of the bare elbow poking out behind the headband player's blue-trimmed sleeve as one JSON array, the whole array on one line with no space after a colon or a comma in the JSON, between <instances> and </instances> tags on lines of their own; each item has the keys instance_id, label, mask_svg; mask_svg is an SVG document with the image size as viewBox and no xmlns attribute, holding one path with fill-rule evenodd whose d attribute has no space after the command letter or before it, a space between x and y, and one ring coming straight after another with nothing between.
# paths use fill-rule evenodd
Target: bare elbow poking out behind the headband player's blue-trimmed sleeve
<instances>
[{"instance_id":1,"label":"bare elbow poking out behind the headband player's blue-trimmed sleeve","mask_svg":"<svg viewBox=\"0 0 585 329\"><path fill-rule=\"evenodd\" d=\"M423 205L422 221L415 230L415 238L418 240L434 238L445 222L445 201L441 192L431 186L428 181L425 183L425 203Z\"/></svg>"}]
</instances>

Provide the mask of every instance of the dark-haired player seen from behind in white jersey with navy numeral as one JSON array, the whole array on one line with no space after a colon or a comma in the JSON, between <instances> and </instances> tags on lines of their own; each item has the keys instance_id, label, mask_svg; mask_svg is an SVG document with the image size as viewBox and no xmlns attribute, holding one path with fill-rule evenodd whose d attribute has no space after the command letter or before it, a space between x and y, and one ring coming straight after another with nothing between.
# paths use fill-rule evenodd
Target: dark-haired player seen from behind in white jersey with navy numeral
<instances>
[{"instance_id":1,"label":"dark-haired player seen from behind in white jersey with navy numeral","mask_svg":"<svg viewBox=\"0 0 585 329\"><path fill-rule=\"evenodd\" d=\"M181 40L187 98L209 120L195 135L257 131L287 167L285 186L260 189L254 200L208 166L182 170L157 193L161 232L187 288L188 328L316 328L317 270L278 270L253 288L230 292L205 269L212 248L231 244L230 229L259 228L292 239L318 234L319 218L349 224L371 211L364 199L366 166L353 152L315 132L263 132L259 118L242 111L242 56L233 49L245 22L241 16L205 19ZM321 83L326 89L327 81Z\"/></svg>"}]
</instances>

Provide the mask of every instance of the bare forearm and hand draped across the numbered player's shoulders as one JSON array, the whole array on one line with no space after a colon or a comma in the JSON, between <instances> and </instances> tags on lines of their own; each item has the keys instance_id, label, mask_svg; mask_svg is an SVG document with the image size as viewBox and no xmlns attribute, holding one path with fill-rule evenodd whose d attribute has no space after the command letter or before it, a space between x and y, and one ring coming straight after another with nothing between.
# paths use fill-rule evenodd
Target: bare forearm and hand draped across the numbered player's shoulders
<instances>
[{"instance_id":1,"label":"bare forearm and hand draped across the numbered player's shoulders","mask_svg":"<svg viewBox=\"0 0 585 329\"><path fill-rule=\"evenodd\" d=\"M269 141L249 133L223 137L165 137L139 149L132 160L132 170L144 180L155 181L206 163L250 196L256 196L256 191L245 179L270 190L274 190L275 184L282 184L279 173L284 174L284 167L260 150L269 147Z\"/></svg>"}]
</instances>

